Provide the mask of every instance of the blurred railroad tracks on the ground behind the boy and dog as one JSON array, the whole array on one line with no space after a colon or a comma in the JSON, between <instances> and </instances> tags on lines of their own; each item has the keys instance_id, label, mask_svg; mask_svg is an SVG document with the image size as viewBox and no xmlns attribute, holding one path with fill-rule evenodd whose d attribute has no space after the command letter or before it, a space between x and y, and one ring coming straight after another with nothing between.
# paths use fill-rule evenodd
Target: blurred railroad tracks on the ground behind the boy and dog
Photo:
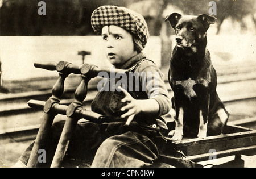
<instances>
[{"instance_id":1,"label":"blurred railroad tracks on the ground behind the boy and dog","mask_svg":"<svg viewBox=\"0 0 256 179\"><path fill-rule=\"evenodd\" d=\"M167 74L168 69L163 69L163 73ZM238 120L240 125L253 120L256 116L254 107L256 105L256 65L243 64L230 66L226 70L226 66L218 66L218 86L217 91L222 101L224 101L230 113L229 121L234 123ZM56 78L57 79L57 78ZM52 79L51 79L52 80ZM55 79L52 80L52 84ZM46 81L44 81L46 82ZM64 90L63 98L60 103L69 105L73 102L76 86L80 79L73 76L69 79L68 87ZM172 90L165 80L167 89L172 96ZM52 84L48 84L52 85ZM250 88L245 88L250 86ZM84 107L90 110L90 103L97 94L97 79L88 86L88 95L84 101ZM51 97L52 90L29 91L20 94L8 94L0 98L0 140L12 136L16 140L33 139L40 126L40 116L42 111L32 109L27 105L30 99L47 101ZM249 105L250 111L239 111L241 105ZM251 123L251 122L250 122Z\"/></svg>"}]
</instances>

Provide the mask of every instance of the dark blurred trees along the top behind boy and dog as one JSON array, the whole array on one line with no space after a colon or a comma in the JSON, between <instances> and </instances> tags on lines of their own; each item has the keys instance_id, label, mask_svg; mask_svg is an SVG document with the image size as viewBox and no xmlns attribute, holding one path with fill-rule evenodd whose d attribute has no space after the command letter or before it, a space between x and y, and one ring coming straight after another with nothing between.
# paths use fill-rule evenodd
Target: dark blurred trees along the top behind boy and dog
<instances>
[{"instance_id":1,"label":"dark blurred trees along the top behind boy and dog","mask_svg":"<svg viewBox=\"0 0 256 179\"><path fill-rule=\"evenodd\" d=\"M1 0L0 35L93 35L90 15L101 5L126 6L138 11L148 21L151 35L159 35L164 11L170 9L187 15L208 14L209 0L45 0L47 15L38 15L36 0ZM229 19L248 28L245 18L255 25L255 1L214 1L217 3L218 32L221 24Z\"/></svg>"}]
</instances>

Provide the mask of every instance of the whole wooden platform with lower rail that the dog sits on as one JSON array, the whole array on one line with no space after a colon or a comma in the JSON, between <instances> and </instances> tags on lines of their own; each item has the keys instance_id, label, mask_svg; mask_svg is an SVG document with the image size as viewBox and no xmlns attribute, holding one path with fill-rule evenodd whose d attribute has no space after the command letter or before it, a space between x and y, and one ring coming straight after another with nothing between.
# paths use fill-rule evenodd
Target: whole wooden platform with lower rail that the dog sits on
<instances>
[{"instance_id":1,"label":"whole wooden platform with lower rail that the dog sits on","mask_svg":"<svg viewBox=\"0 0 256 179\"><path fill-rule=\"evenodd\" d=\"M232 155L256 155L256 130L245 127L226 126L223 135L204 139L168 139L168 147L162 157L168 159L175 149L184 153L185 159L200 162ZM215 157L213 157L215 156Z\"/></svg>"}]
</instances>

